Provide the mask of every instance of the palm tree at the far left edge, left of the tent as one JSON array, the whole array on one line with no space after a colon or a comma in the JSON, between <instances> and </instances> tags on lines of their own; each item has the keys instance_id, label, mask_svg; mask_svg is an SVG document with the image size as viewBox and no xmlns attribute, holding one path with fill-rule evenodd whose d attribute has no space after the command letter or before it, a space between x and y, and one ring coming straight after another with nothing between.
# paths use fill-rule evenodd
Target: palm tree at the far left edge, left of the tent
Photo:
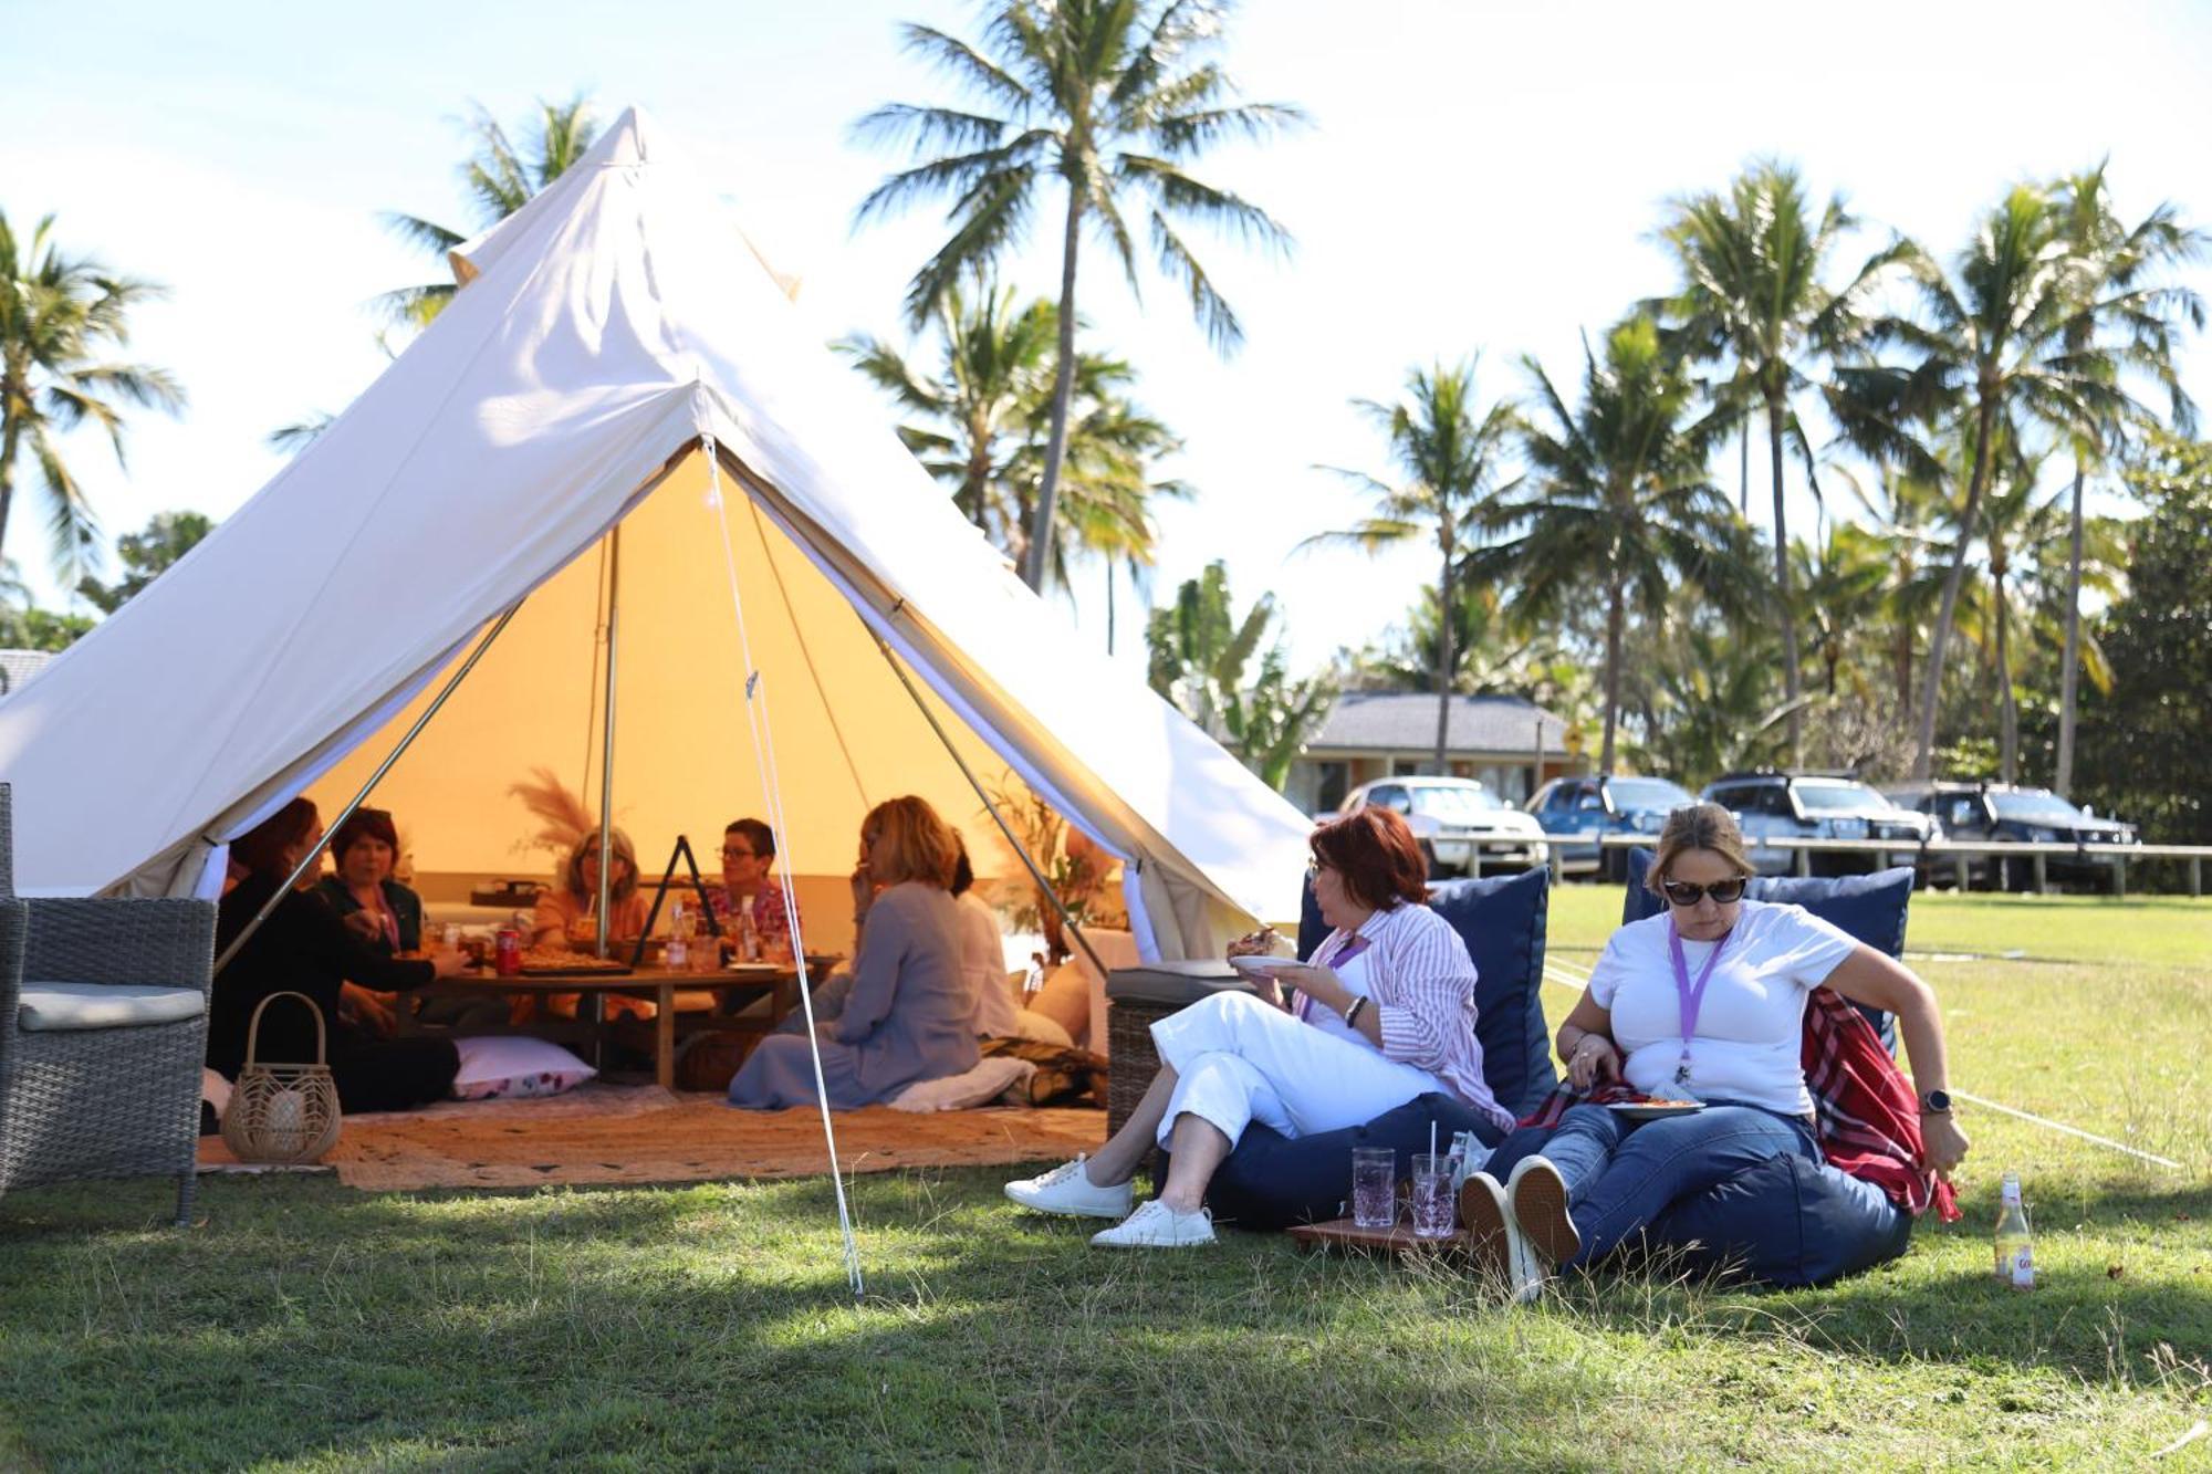
<instances>
[{"instance_id":1,"label":"palm tree at the far left edge, left of the tent","mask_svg":"<svg viewBox=\"0 0 2212 1474\"><path fill-rule=\"evenodd\" d=\"M31 451L46 489L53 560L75 582L100 544L100 520L62 460L60 436L97 425L124 460L128 407L184 409L168 370L119 363L131 343L131 310L168 294L153 281L119 277L93 257L71 257L53 241L53 217L18 241L0 215L0 547L15 509L15 456Z\"/></svg>"}]
</instances>

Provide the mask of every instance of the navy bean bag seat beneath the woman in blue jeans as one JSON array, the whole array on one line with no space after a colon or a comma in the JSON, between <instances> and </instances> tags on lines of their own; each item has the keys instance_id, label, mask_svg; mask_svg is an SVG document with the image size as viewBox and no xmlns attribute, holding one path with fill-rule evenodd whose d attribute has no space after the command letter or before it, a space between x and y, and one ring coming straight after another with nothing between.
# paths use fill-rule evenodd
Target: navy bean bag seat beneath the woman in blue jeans
<instances>
[{"instance_id":1,"label":"navy bean bag seat beneath the woman in blue jeans","mask_svg":"<svg viewBox=\"0 0 2212 1474\"><path fill-rule=\"evenodd\" d=\"M1827 1284L1905 1253L1909 1213L1882 1188L1805 1158L1772 1158L1683 1197L1646 1231L1670 1264L1770 1286Z\"/></svg>"}]
</instances>

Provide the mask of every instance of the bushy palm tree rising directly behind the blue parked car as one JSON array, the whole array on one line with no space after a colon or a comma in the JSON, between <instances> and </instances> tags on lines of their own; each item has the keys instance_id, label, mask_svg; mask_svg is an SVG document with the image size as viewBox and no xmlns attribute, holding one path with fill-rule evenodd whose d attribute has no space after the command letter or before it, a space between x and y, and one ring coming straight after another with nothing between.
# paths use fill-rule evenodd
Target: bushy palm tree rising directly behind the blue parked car
<instances>
[{"instance_id":1,"label":"bushy palm tree rising directly behind the blue parked car","mask_svg":"<svg viewBox=\"0 0 2212 1474\"><path fill-rule=\"evenodd\" d=\"M1679 598L1743 613L1752 540L1708 476L1712 423L1692 423L1697 385L1637 314L1584 343L1582 407L1571 409L1542 365L1524 359L1548 423L1524 429L1528 482L1486 513L1504 542L1467 560L1473 575L1511 575L1526 620L1546 620L1593 587L1606 611L1606 735L1613 770L1621 710L1621 633L1630 604L1659 622Z\"/></svg>"}]
</instances>

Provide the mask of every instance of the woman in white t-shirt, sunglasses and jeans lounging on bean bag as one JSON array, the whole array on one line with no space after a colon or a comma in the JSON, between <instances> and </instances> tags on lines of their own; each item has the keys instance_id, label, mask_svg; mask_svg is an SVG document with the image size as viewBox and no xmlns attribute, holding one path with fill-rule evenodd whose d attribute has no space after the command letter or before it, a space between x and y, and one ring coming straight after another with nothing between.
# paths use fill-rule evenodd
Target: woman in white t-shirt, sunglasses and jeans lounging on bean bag
<instances>
[{"instance_id":1,"label":"woman in white t-shirt, sunglasses and jeans lounging on bean bag","mask_svg":"<svg viewBox=\"0 0 2212 1474\"><path fill-rule=\"evenodd\" d=\"M1705 1109L1639 1124L1601 1104L1571 1107L1506 1186L1489 1173L1469 1177L1462 1213L1478 1239L1588 1266L1674 1200L1745 1166L1778 1155L1818 1162L1798 1060L1805 996L1820 985L1898 1016L1920 1091L1922 1166L1960 1164L1966 1135L1951 1115L1942 1018L1927 983L1801 905L1745 901L1752 863L1719 803L1668 817L1650 874L1668 910L1606 943L1559 1025L1559 1058L1577 1089L1626 1080ZM1515 1277L1526 1288L1524 1270Z\"/></svg>"}]
</instances>

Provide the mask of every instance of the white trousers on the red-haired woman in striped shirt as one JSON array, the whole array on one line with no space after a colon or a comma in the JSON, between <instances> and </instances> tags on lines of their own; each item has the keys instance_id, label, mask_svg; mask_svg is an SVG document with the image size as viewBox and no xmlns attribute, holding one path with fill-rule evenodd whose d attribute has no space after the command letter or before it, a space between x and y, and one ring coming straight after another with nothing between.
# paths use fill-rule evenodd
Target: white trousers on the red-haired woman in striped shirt
<instances>
[{"instance_id":1,"label":"white trousers on the red-haired woman in striped shirt","mask_svg":"<svg viewBox=\"0 0 2212 1474\"><path fill-rule=\"evenodd\" d=\"M1444 1089L1427 1069L1323 1034L1252 994L1214 994L1161 1018L1152 1045L1177 1076L1159 1120L1161 1146L1186 1111L1234 1146L1254 1120L1283 1135L1316 1135Z\"/></svg>"}]
</instances>

